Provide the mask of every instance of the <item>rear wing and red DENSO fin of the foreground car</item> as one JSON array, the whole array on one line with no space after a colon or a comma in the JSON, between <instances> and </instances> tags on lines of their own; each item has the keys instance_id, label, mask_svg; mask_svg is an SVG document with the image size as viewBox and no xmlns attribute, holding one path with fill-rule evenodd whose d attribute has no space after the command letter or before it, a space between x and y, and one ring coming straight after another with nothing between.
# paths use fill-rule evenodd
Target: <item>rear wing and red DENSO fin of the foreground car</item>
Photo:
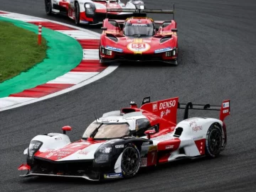
<instances>
[{"instance_id":1,"label":"rear wing and red DENSO fin of the foreground car","mask_svg":"<svg viewBox=\"0 0 256 192\"><path fill-rule=\"evenodd\" d=\"M226 116L230 115L230 100L223 101L221 106L215 106L210 104L193 104L188 103L179 103L178 97L167 98L161 101L150 101L150 97L145 97L142 100L141 109L154 113L155 115L160 116L166 120L171 120L173 123L177 121L177 109L185 109L183 120L188 118L188 110L211 110L211 111L220 111L220 120L224 120Z\"/></svg>"}]
</instances>

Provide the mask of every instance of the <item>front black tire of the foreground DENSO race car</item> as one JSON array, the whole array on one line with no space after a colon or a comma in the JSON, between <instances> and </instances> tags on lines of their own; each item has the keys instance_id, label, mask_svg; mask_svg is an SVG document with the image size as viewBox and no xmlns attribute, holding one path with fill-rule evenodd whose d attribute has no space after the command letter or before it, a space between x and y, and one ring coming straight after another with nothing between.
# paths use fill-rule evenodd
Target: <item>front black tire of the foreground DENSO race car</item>
<instances>
[{"instance_id":1,"label":"front black tire of the foreground DENSO race car","mask_svg":"<svg viewBox=\"0 0 256 192\"><path fill-rule=\"evenodd\" d=\"M128 144L123 151L121 168L124 178L131 178L137 174L140 166L139 150L133 144Z\"/></svg>"}]
</instances>

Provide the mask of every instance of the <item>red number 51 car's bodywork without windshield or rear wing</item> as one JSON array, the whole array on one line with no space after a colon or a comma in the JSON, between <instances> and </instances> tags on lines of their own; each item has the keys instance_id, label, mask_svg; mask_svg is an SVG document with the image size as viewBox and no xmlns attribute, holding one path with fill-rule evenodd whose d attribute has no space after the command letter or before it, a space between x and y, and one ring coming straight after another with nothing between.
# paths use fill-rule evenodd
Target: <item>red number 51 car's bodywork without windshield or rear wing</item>
<instances>
[{"instance_id":1,"label":"red number 51 car's bodywork without windshield or rear wing","mask_svg":"<svg viewBox=\"0 0 256 192\"><path fill-rule=\"evenodd\" d=\"M154 35L133 37L124 34L122 25L125 23L152 23ZM177 64L178 36L176 21L154 21L148 17L132 17L127 20L103 21L103 32L100 37L100 61L112 62L122 60L132 61L162 61ZM109 51L107 51L109 50Z\"/></svg>"}]
</instances>

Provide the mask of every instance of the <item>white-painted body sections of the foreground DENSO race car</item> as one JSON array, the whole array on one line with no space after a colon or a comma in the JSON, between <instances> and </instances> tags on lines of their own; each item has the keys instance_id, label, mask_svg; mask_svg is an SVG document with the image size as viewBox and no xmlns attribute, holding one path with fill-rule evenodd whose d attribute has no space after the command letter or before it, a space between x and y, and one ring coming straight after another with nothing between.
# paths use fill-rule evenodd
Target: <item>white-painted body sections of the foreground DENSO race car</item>
<instances>
[{"instance_id":1,"label":"white-painted body sections of the foreground DENSO race car","mask_svg":"<svg viewBox=\"0 0 256 192\"><path fill-rule=\"evenodd\" d=\"M99 118L97 120L97 123L103 123L103 122L128 123L129 129L135 130L136 120L146 118L145 115L142 115L142 112L127 113L125 115L117 115L117 113L120 113L120 111L112 111L110 113L105 113L102 116L102 118ZM95 122L96 120L93 123ZM176 129L183 128L183 132L179 137L179 140L181 140L181 143L178 146L178 149L183 148L185 153L180 154L177 149L175 152L172 152L170 154L168 158L168 162L171 162L178 157L198 157L202 153L204 154L203 150L205 149L205 147L204 146L198 147L196 145L196 141L206 139L208 128L210 128L210 125L213 125L213 123L218 123L221 127L223 126L223 122L215 118L188 118L186 120L182 120L180 123L176 125L176 128L174 129L174 131L168 132L164 135L159 135L158 137L151 138L151 140L153 141L153 145L142 146L142 151L148 152L150 147L152 146L157 147L159 142L164 142L164 141L169 141L174 139ZM146 136L142 138L146 139ZM39 149L40 152L50 151L52 152L53 155L54 154L58 155L58 151L60 151L61 148L65 148L66 146L71 144L68 135L64 135L60 133L49 133L48 135L37 135L31 141L33 140L43 142L43 145ZM223 140L224 140L224 135L223 135ZM98 147L100 147L100 145L105 144L107 142L114 142L114 141L109 140L106 142L100 142L93 145L91 145L89 142L86 142L86 141L79 142L78 145L90 145L90 146L86 147L85 149L80 149L77 152L70 154L68 157L64 157L56 161L94 159L94 154L95 154L95 151L98 149ZM24 154L27 154L27 152L28 152L28 149L25 149ZM142 161L146 161L146 160L147 159L142 157ZM119 163L120 162L117 162L117 164ZM141 166L146 166L146 165L141 164Z\"/></svg>"}]
</instances>

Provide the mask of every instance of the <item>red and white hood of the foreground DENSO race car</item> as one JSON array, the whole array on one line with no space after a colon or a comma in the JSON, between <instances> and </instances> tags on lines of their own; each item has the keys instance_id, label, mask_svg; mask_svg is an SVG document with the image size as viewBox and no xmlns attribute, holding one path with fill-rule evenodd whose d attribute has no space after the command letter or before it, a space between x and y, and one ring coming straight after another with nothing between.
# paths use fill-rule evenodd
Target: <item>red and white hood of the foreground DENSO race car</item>
<instances>
[{"instance_id":1,"label":"red and white hood of the foreground DENSO race car","mask_svg":"<svg viewBox=\"0 0 256 192\"><path fill-rule=\"evenodd\" d=\"M36 152L35 158L43 158L51 161L70 161L70 160L85 160L94 159L95 151L105 141L92 142L72 142L60 149L48 149L46 152Z\"/></svg>"}]
</instances>

